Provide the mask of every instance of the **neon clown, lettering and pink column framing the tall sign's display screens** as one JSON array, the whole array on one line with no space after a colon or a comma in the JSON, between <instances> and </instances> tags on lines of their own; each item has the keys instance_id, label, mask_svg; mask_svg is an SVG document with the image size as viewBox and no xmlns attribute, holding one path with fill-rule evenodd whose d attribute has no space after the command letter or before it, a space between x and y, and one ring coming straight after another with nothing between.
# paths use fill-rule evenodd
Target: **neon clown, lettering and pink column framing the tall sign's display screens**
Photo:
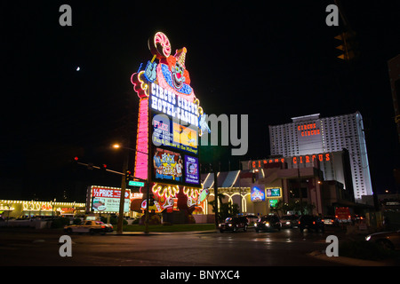
<instances>
[{"instance_id":1,"label":"neon clown, lettering and pink column framing the tall sign's display screens","mask_svg":"<svg viewBox=\"0 0 400 284\"><path fill-rule=\"evenodd\" d=\"M181 124L180 121L183 121L189 123L190 127L195 127L196 132L194 133L197 135L197 141L198 137L202 135L199 122L201 116L204 114L204 110L200 106L200 101L196 98L193 89L189 85L190 76L185 66L187 49L183 47L172 55L171 43L168 37L161 32L157 32L155 36L149 38L148 47L153 54L153 59L148 61L145 70L139 69L138 72L134 73L131 77L133 89L140 98L134 177L150 179L148 182L151 184L151 191L155 194L157 205L160 208L163 207L162 201L168 200L169 198L176 198L180 193L188 196L191 200L190 203L196 205L199 200L200 192L202 192L200 178L198 185L193 184L189 186L184 182L183 176L179 183L173 183L170 180L155 180L152 161L152 152L153 148L155 148L152 137L154 129L153 125L149 125L156 111L161 114L166 114L167 116L172 116L171 113L167 111L163 112L163 110L166 109L164 105L166 105L167 100L173 96L176 100L176 108L174 106L173 109L177 110L175 114L179 116L176 117L178 122ZM156 62L155 59L158 59L158 62ZM141 66L142 65L140 65L140 68ZM157 102L157 104L162 104L162 109L152 109L152 105L156 104L156 101L152 100L152 96L154 96L155 99L162 99L160 102ZM170 106L170 109L171 108ZM184 116L181 116L182 114ZM194 116L196 116L196 118ZM171 118L174 117L172 116ZM174 124L172 124L172 126L173 125ZM161 127L161 124L157 125L157 127L158 126ZM161 132L161 130L158 132ZM150 143L152 144L150 145ZM151 148L149 148L149 146ZM197 151L189 151L188 155L187 153L181 153L183 151L181 148L170 148L167 145L156 145L156 147L166 147L165 150L177 151L178 154L181 154L182 159L191 155L194 155L194 157L198 159ZM151 163L149 164L149 162ZM151 172L148 172L148 170L151 170ZM184 170L182 169L182 171ZM204 191L201 198L202 201L205 200L207 195L208 191Z\"/></svg>"}]
</instances>

